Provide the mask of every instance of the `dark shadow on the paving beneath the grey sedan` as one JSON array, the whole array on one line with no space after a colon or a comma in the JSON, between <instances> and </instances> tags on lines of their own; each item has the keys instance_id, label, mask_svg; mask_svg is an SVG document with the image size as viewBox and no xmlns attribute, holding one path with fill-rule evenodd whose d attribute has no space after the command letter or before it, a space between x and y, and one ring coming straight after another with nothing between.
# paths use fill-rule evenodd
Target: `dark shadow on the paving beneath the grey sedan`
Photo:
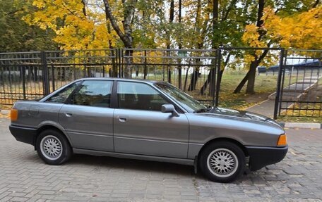
<instances>
[{"instance_id":1,"label":"dark shadow on the paving beneath the grey sedan","mask_svg":"<svg viewBox=\"0 0 322 202\"><path fill-rule=\"evenodd\" d=\"M30 155L29 155L30 154ZM24 160L28 160L33 163L46 165L38 156L37 152L25 153L25 156L21 156ZM47 165L53 166L53 165ZM109 172L112 170L115 173L121 172L138 172L146 175L163 175L164 177L178 177L178 179L197 179L198 182L210 182L203 177L200 170L195 175L193 166L179 165L175 163L157 162L150 160L135 160L129 158L114 158L108 156L90 156L84 154L74 154L70 160L63 165L54 166L55 169L61 168L86 168L90 172ZM242 175L232 184L252 184L254 182L266 183L266 177L270 177L271 173L267 172L266 168L258 170L257 172L250 172L248 175Z\"/></svg>"}]
</instances>

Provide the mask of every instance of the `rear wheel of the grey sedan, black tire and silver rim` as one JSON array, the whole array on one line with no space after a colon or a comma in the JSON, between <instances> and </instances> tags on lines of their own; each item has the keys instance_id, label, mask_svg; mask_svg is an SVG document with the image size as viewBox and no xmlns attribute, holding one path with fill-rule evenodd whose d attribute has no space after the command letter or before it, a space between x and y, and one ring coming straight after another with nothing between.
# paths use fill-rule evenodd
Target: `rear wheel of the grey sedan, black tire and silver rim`
<instances>
[{"instance_id":1,"label":"rear wheel of the grey sedan, black tire and silver rim","mask_svg":"<svg viewBox=\"0 0 322 202\"><path fill-rule=\"evenodd\" d=\"M36 149L38 156L49 165L61 165L65 163L73 151L68 140L56 130L44 130L37 137Z\"/></svg>"}]
</instances>

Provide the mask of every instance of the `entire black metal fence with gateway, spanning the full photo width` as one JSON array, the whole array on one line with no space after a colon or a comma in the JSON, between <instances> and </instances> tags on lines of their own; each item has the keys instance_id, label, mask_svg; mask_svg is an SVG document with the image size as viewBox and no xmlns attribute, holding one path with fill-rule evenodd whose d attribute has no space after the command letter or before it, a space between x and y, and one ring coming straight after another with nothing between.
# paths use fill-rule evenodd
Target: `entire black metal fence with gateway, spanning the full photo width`
<instances>
[{"instance_id":1,"label":"entire black metal fence with gateway, spanning the full photo width","mask_svg":"<svg viewBox=\"0 0 322 202\"><path fill-rule=\"evenodd\" d=\"M276 81L273 84L277 87L274 117L321 116L321 51L278 48L0 53L0 104L11 105L17 100L40 99L82 77L124 77L128 74L137 79L171 82L196 99L218 106L220 92L223 94L226 90L225 86L220 87L226 72L232 69L246 75L247 67L241 65L246 61L240 61L239 58L254 55L256 51L260 52L258 54L265 53L266 58L275 58L278 64L263 69L266 76L274 77ZM259 68L258 74L261 74ZM261 85L265 86L266 83Z\"/></svg>"}]
</instances>

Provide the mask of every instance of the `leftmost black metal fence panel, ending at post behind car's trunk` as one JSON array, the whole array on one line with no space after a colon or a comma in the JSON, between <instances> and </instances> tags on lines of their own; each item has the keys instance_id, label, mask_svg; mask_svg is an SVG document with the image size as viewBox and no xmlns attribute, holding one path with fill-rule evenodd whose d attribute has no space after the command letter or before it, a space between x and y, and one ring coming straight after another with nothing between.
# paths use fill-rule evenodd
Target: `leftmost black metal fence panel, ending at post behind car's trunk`
<instances>
[{"instance_id":1,"label":"leftmost black metal fence panel, ending at post behind car's trunk","mask_svg":"<svg viewBox=\"0 0 322 202\"><path fill-rule=\"evenodd\" d=\"M0 88L2 104L42 96L41 53L0 53Z\"/></svg>"}]
</instances>

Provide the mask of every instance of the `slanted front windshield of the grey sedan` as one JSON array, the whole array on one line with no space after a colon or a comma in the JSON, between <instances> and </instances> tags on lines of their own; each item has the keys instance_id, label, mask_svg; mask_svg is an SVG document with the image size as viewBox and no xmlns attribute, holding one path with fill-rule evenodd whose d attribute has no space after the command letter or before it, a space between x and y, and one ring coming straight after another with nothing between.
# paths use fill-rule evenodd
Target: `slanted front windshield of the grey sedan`
<instances>
[{"instance_id":1,"label":"slanted front windshield of the grey sedan","mask_svg":"<svg viewBox=\"0 0 322 202\"><path fill-rule=\"evenodd\" d=\"M163 91L165 94L169 95L177 101L177 103L185 108L190 113L193 112L201 112L207 109L206 106L204 106L199 101L196 101L188 94L184 93L184 91L181 91L180 89L177 89L177 87L172 86L168 83L155 83L155 86Z\"/></svg>"}]
</instances>

